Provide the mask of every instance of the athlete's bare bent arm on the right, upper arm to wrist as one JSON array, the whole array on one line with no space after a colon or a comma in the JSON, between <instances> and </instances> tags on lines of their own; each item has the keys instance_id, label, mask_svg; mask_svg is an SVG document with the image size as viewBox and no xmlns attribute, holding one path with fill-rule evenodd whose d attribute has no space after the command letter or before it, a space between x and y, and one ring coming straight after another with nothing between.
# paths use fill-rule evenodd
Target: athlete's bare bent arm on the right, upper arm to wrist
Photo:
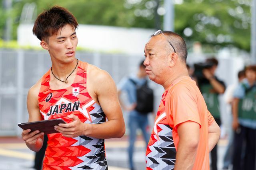
<instances>
[{"instance_id":1,"label":"athlete's bare bent arm on the right, upper arm to wrist","mask_svg":"<svg viewBox=\"0 0 256 170\"><path fill-rule=\"evenodd\" d=\"M88 136L104 139L122 137L125 132L125 125L114 80L107 72L102 71L99 81L96 86L97 98L108 121L92 125L92 131Z\"/></svg>"}]
</instances>

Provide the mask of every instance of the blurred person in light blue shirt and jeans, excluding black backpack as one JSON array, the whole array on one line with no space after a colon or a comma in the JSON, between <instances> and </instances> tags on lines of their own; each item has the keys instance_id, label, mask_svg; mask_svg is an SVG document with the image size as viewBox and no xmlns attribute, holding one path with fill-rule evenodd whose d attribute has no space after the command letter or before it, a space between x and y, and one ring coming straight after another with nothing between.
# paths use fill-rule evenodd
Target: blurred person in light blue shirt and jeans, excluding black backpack
<instances>
[{"instance_id":1,"label":"blurred person in light blue shirt and jeans, excluding black backpack","mask_svg":"<svg viewBox=\"0 0 256 170\"><path fill-rule=\"evenodd\" d=\"M142 111L138 110L138 93L140 93L137 87L147 85L147 74L145 71L145 66L143 65L143 61L139 65L139 69L136 75L130 77L124 77L120 83L118 84L118 96L120 100L121 106L128 111L128 129L129 129L129 147L128 147L128 157L129 157L129 165L130 169L134 170L134 143L137 136L137 129L139 128L142 131L142 135L145 143L148 143L149 140L149 125L148 125L148 113L149 111L153 111L153 101L152 103L147 104L149 110ZM128 94L129 104L124 103L121 100L120 95L126 92Z\"/></svg>"}]
</instances>

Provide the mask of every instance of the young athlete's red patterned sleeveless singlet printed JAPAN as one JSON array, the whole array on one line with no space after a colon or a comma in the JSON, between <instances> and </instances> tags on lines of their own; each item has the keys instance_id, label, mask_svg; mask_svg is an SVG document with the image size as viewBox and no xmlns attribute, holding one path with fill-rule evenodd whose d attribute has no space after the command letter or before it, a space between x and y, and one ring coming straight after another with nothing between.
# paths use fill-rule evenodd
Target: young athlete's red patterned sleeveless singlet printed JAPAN
<instances>
[{"instance_id":1,"label":"young athlete's red patterned sleeveless singlet printed JAPAN","mask_svg":"<svg viewBox=\"0 0 256 170\"><path fill-rule=\"evenodd\" d=\"M44 120L62 118L70 123L67 115L74 114L84 123L98 124L106 121L102 108L88 94L87 66L87 63L79 61L73 84L59 90L50 89L50 70L44 74L38 95L39 109ZM43 169L107 170L104 139L84 135L69 138L62 133L49 134Z\"/></svg>"}]
</instances>

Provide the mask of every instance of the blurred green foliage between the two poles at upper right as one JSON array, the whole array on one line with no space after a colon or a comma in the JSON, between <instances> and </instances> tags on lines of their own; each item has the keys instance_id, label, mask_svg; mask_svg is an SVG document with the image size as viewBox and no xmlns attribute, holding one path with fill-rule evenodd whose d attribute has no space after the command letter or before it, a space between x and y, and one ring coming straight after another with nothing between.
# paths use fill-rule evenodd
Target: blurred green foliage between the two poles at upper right
<instances>
[{"instance_id":1,"label":"blurred green foliage between the two poles at upper right","mask_svg":"<svg viewBox=\"0 0 256 170\"><path fill-rule=\"evenodd\" d=\"M175 31L186 39L250 50L250 1L186 0L175 11ZM184 35L186 28L191 36Z\"/></svg>"}]
</instances>

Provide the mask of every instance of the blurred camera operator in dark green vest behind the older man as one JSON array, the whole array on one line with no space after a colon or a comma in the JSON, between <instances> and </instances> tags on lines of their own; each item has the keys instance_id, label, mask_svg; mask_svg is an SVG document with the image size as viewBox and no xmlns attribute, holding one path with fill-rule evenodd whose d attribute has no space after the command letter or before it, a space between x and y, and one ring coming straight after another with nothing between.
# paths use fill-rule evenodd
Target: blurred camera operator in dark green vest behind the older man
<instances>
[{"instance_id":1,"label":"blurred camera operator in dark green vest behind the older man","mask_svg":"<svg viewBox=\"0 0 256 170\"><path fill-rule=\"evenodd\" d=\"M207 109L210 111L214 117L216 123L220 126L220 104L218 100L218 95L225 92L225 84L215 76L215 71L218 66L218 60L215 58L206 59L205 63L202 64L201 76L195 75L198 87L204 96L204 100L207 105ZM199 73L195 68L196 74ZM217 170L217 147L216 145L211 151L211 167L212 170Z\"/></svg>"}]
</instances>

